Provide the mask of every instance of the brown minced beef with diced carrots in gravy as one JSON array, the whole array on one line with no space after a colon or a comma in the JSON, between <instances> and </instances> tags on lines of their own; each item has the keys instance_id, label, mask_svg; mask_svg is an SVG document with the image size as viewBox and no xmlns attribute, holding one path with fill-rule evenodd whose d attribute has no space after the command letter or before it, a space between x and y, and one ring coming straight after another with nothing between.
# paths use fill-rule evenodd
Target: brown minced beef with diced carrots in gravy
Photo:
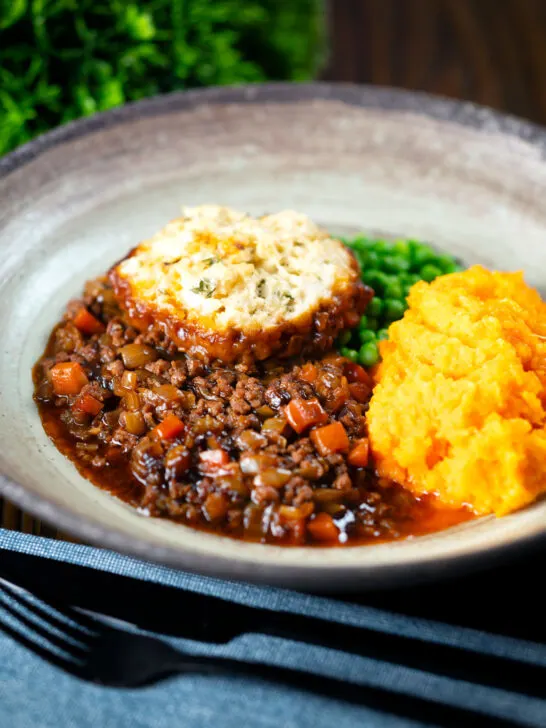
<instances>
[{"instance_id":1,"label":"brown minced beef with diced carrots in gravy","mask_svg":"<svg viewBox=\"0 0 546 728\"><path fill-rule=\"evenodd\" d=\"M371 380L336 352L232 367L189 357L128 325L99 279L68 305L34 380L57 447L150 516L286 545L395 539L464 517L375 476Z\"/></svg>"}]
</instances>

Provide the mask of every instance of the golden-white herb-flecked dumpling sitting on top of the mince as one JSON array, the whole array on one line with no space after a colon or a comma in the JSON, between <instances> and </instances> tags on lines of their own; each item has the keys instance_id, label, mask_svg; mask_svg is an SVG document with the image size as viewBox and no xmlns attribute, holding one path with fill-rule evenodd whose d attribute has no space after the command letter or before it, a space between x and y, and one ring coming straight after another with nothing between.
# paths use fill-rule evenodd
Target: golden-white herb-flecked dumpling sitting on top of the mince
<instances>
[{"instance_id":1,"label":"golden-white herb-flecked dumpling sitting on top of the mince","mask_svg":"<svg viewBox=\"0 0 546 728\"><path fill-rule=\"evenodd\" d=\"M216 205L184 209L110 277L133 325L227 362L327 350L372 296L351 252L305 215Z\"/></svg>"}]
</instances>

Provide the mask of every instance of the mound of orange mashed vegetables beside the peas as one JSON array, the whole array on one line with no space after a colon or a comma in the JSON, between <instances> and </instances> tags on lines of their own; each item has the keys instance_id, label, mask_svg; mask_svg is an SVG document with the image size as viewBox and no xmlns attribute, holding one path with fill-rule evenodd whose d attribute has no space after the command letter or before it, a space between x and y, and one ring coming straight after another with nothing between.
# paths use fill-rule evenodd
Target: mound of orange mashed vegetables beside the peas
<instances>
[{"instance_id":1,"label":"mound of orange mashed vegetables beside the peas","mask_svg":"<svg viewBox=\"0 0 546 728\"><path fill-rule=\"evenodd\" d=\"M546 491L546 303L521 273L417 283L381 344L368 412L380 475L504 515Z\"/></svg>"}]
</instances>

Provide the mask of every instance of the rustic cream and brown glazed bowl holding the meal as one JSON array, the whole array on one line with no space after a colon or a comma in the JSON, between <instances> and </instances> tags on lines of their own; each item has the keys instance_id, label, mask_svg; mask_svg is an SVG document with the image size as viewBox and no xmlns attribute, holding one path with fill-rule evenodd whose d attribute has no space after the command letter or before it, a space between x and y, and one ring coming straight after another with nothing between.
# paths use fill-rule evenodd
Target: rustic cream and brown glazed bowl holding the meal
<instances>
[{"instance_id":1,"label":"rustic cream and brown glazed bowl holding the meal","mask_svg":"<svg viewBox=\"0 0 546 728\"><path fill-rule=\"evenodd\" d=\"M471 104L346 85L174 94L69 124L0 160L0 491L80 539L233 579L367 588L449 575L546 533L546 502L407 541L243 543L140 515L48 440L31 368L84 281L177 215L293 208L334 232L432 242L546 289L546 132Z\"/></svg>"}]
</instances>

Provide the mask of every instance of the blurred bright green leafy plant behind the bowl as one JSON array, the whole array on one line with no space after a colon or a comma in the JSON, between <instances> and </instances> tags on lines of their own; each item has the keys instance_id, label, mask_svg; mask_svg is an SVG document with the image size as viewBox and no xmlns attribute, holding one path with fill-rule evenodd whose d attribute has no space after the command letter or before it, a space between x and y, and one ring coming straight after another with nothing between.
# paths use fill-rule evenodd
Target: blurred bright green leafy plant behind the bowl
<instances>
[{"instance_id":1,"label":"blurred bright green leafy plant behind the bowl","mask_svg":"<svg viewBox=\"0 0 546 728\"><path fill-rule=\"evenodd\" d=\"M320 0L0 0L0 154L161 92L310 78L321 9Z\"/></svg>"}]
</instances>

